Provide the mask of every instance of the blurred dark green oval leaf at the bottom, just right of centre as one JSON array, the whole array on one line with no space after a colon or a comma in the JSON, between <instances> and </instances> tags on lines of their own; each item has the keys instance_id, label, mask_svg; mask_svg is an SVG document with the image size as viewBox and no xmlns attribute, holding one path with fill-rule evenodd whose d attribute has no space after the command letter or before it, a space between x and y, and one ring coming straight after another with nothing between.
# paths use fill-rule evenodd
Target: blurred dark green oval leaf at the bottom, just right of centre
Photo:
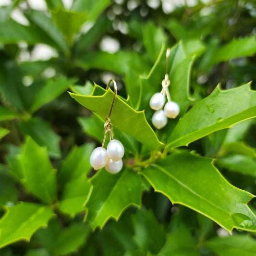
<instances>
[{"instance_id":1,"label":"blurred dark green oval leaf at the bottom, just right of centre","mask_svg":"<svg viewBox=\"0 0 256 256\"><path fill-rule=\"evenodd\" d=\"M157 254L165 242L165 232L151 211L138 209L132 216L134 240L145 253Z\"/></svg>"}]
</instances>

